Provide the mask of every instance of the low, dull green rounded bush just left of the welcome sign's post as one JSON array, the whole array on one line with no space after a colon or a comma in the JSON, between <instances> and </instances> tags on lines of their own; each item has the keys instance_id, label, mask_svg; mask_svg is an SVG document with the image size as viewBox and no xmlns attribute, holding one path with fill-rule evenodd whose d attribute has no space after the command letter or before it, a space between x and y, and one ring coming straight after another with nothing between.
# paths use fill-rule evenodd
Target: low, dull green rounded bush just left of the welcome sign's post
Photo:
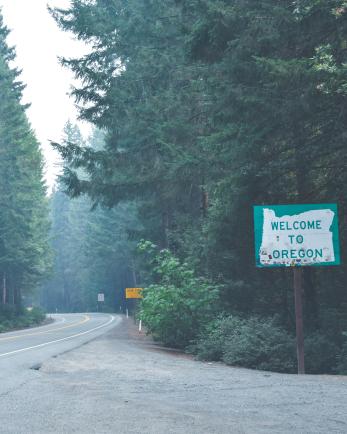
<instances>
[{"instance_id":1,"label":"low, dull green rounded bush just left of the welcome sign's post","mask_svg":"<svg viewBox=\"0 0 347 434\"><path fill-rule=\"evenodd\" d=\"M220 318L200 335L195 353L205 360L276 372L295 372L295 339L274 319Z\"/></svg>"}]
</instances>

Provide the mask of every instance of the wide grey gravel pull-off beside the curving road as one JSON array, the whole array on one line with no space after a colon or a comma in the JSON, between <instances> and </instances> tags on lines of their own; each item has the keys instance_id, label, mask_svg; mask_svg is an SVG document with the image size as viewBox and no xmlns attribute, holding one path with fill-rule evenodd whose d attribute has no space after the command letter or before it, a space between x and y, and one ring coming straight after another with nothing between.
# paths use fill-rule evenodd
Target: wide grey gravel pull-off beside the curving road
<instances>
[{"instance_id":1,"label":"wide grey gravel pull-off beside the curving road","mask_svg":"<svg viewBox=\"0 0 347 434\"><path fill-rule=\"evenodd\" d=\"M158 348L124 319L96 340L50 359L2 398L1 416L7 416L1 432L342 434L346 386L347 377L197 362ZM27 421L23 431L19 414Z\"/></svg>"}]
</instances>

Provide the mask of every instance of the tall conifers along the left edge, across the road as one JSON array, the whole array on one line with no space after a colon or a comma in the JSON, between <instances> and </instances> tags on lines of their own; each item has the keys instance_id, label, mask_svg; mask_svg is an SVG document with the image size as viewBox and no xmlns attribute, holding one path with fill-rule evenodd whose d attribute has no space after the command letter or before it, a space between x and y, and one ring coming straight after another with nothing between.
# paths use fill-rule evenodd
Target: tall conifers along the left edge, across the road
<instances>
[{"instance_id":1,"label":"tall conifers along the left edge, across the road","mask_svg":"<svg viewBox=\"0 0 347 434\"><path fill-rule=\"evenodd\" d=\"M19 71L10 66L8 33L0 14L0 303L19 310L51 260L43 159L21 102Z\"/></svg>"}]
</instances>

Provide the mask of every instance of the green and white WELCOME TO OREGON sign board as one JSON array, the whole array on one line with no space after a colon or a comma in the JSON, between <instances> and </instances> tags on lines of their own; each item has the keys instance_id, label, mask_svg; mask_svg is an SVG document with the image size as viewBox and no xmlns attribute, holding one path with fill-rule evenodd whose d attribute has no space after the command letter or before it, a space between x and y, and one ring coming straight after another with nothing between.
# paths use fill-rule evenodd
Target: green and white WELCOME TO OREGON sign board
<instances>
[{"instance_id":1,"label":"green and white WELCOME TO OREGON sign board","mask_svg":"<svg viewBox=\"0 0 347 434\"><path fill-rule=\"evenodd\" d=\"M335 204L254 207L257 267L339 265Z\"/></svg>"}]
</instances>

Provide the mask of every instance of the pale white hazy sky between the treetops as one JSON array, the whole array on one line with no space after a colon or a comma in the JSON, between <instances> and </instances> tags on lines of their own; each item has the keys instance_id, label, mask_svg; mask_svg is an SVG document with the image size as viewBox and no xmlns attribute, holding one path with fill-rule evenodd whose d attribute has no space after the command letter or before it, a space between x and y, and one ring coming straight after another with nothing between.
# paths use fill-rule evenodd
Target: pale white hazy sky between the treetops
<instances>
[{"instance_id":1,"label":"pale white hazy sky between the treetops","mask_svg":"<svg viewBox=\"0 0 347 434\"><path fill-rule=\"evenodd\" d=\"M0 8L11 34L8 43L16 46L16 66L23 70L27 85L24 102L46 160L46 179L52 186L58 171L57 155L49 140L59 141L68 119L76 120L74 101L68 96L73 76L59 65L58 56L74 57L87 50L73 36L62 32L47 11L50 6L66 7L69 0L0 0ZM80 125L84 134L90 127Z\"/></svg>"}]
</instances>

